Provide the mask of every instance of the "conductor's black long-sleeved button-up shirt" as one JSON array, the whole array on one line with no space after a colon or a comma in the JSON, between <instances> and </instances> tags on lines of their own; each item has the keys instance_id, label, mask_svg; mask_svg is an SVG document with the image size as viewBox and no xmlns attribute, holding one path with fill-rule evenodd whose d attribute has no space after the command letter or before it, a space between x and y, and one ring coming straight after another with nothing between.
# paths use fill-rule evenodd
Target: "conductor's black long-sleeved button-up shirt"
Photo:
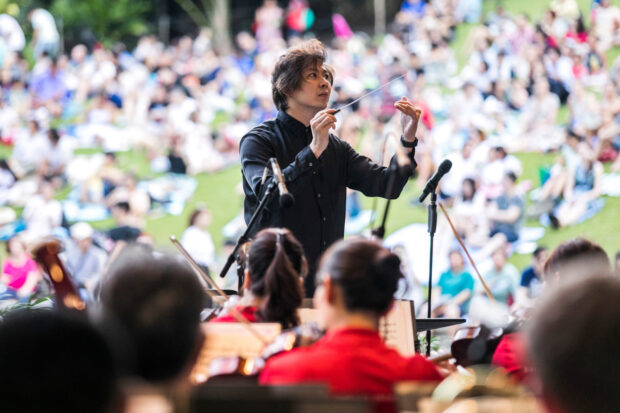
<instances>
[{"instance_id":1,"label":"conductor's black long-sleeved button-up shirt","mask_svg":"<svg viewBox=\"0 0 620 413\"><path fill-rule=\"evenodd\" d=\"M267 227L285 227L301 242L310 267L306 294L314 290L316 264L327 247L344 236L346 188L366 196L387 197L391 173L396 173L393 191L397 198L409 177L400 168L385 168L358 154L351 146L329 135L329 144L317 159L310 149L312 131L285 112L249 131L239 148L245 192L245 221L258 206L271 176L261 184L269 158L275 157L282 168L287 188L295 197L290 208L280 208L274 196L258 220L256 231ZM413 151L410 159L413 162ZM393 157L391 162L396 162ZM415 163L413 163L415 166ZM395 172L392 172L395 170Z\"/></svg>"}]
</instances>

